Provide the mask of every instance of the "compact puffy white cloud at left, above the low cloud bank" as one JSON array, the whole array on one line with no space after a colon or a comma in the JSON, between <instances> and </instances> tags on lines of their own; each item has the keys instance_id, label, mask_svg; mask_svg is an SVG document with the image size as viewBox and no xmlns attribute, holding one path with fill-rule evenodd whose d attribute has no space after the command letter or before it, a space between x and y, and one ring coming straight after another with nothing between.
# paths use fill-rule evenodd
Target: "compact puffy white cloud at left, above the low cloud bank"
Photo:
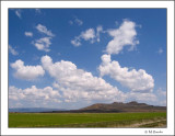
<instances>
[{"instance_id":1,"label":"compact puffy white cloud at left, above the low cloud bank","mask_svg":"<svg viewBox=\"0 0 175 136\"><path fill-rule=\"evenodd\" d=\"M33 80L39 76L44 76L45 70L42 66L24 66L24 61L21 59L11 64L11 67L15 70L14 76L20 79Z\"/></svg>"}]
</instances>

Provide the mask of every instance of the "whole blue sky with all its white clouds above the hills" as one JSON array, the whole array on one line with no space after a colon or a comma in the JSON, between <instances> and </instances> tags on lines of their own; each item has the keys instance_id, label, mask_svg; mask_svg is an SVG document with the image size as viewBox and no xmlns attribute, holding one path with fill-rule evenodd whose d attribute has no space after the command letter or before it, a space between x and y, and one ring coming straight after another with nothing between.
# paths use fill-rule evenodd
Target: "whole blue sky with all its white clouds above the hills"
<instances>
[{"instance_id":1,"label":"whole blue sky with all its white clouds above the hills","mask_svg":"<svg viewBox=\"0 0 175 136\"><path fill-rule=\"evenodd\" d=\"M166 105L166 9L9 9L9 107Z\"/></svg>"}]
</instances>

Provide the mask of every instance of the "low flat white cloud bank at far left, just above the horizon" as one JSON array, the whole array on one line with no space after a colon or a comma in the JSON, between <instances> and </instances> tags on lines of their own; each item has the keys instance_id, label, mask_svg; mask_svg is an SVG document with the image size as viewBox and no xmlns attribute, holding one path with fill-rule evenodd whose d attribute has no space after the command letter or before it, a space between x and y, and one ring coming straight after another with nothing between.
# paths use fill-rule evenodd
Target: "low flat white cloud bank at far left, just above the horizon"
<instances>
[{"instance_id":1,"label":"low flat white cloud bank at far left, just above the horizon","mask_svg":"<svg viewBox=\"0 0 175 136\"><path fill-rule=\"evenodd\" d=\"M26 89L19 89L14 86L10 86L9 102L11 106L20 103L22 106L26 106L27 104L28 106L48 107L49 104L60 103L61 100L59 91L54 90L51 87L39 89L32 86Z\"/></svg>"}]
</instances>

